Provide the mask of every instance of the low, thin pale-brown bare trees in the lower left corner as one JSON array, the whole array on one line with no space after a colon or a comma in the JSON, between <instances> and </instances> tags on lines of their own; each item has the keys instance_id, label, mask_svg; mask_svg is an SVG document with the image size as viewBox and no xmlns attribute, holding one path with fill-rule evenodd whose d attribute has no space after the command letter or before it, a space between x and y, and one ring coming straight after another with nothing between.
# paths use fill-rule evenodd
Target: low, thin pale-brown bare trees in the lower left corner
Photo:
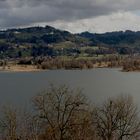
<instances>
[{"instance_id":1,"label":"low, thin pale-brown bare trees in the lower left corner","mask_svg":"<svg viewBox=\"0 0 140 140\"><path fill-rule=\"evenodd\" d=\"M2 108L0 130L5 140L37 140L40 125L27 111L9 106Z\"/></svg>"}]
</instances>

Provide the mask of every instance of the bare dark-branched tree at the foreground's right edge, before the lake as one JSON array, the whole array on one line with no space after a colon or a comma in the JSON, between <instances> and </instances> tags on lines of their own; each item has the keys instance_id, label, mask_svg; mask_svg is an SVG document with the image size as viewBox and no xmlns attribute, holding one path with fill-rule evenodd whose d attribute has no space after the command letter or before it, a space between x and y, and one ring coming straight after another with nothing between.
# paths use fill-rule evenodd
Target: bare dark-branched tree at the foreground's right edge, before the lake
<instances>
[{"instance_id":1,"label":"bare dark-branched tree at the foreground's right edge, before the lake","mask_svg":"<svg viewBox=\"0 0 140 140\"><path fill-rule=\"evenodd\" d=\"M93 114L99 139L140 139L140 120L132 97L109 99L103 106L96 108Z\"/></svg>"}]
</instances>

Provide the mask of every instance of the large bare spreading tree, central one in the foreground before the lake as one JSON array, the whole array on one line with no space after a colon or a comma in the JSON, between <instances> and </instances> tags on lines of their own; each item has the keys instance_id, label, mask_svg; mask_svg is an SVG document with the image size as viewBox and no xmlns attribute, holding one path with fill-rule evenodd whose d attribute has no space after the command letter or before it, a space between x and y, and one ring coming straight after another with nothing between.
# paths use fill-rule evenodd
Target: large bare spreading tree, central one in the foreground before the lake
<instances>
[{"instance_id":1,"label":"large bare spreading tree, central one in the foreground before the lake","mask_svg":"<svg viewBox=\"0 0 140 140\"><path fill-rule=\"evenodd\" d=\"M44 121L46 131L42 139L47 137L48 140L74 140L73 134L78 130L83 131L82 127L86 126L85 123L89 123L88 104L80 90L51 85L43 94L34 97L33 103L39 118ZM86 137L86 134L82 135Z\"/></svg>"}]
</instances>

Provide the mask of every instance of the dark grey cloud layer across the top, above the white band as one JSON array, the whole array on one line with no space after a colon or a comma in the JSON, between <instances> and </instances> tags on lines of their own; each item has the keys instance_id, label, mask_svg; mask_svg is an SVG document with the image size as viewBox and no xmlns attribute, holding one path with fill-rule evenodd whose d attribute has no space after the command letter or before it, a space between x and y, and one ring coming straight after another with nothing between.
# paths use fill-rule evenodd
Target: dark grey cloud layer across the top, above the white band
<instances>
[{"instance_id":1,"label":"dark grey cloud layer across the top, above the white band","mask_svg":"<svg viewBox=\"0 0 140 140\"><path fill-rule=\"evenodd\" d=\"M139 8L139 0L0 0L0 27L73 21Z\"/></svg>"}]
</instances>

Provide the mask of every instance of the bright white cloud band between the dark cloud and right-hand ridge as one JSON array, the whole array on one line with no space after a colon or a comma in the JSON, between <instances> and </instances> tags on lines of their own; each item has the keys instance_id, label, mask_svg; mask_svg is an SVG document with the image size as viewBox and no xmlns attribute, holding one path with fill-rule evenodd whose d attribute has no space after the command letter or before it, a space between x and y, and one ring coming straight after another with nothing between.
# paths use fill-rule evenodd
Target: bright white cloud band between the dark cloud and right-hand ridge
<instances>
[{"instance_id":1,"label":"bright white cloud band between the dark cloud and right-hand ridge","mask_svg":"<svg viewBox=\"0 0 140 140\"><path fill-rule=\"evenodd\" d=\"M56 28L69 30L73 33L89 31L93 33L104 33L120 30L140 31L140 16L131 12L117 12L110 15L98 16L89 19L81 19L76 21L55 21L48 22ZM36 24L37 25L37 24ZM46 23L40 23L45 26Z\"/></svg>"}]
</instances>

